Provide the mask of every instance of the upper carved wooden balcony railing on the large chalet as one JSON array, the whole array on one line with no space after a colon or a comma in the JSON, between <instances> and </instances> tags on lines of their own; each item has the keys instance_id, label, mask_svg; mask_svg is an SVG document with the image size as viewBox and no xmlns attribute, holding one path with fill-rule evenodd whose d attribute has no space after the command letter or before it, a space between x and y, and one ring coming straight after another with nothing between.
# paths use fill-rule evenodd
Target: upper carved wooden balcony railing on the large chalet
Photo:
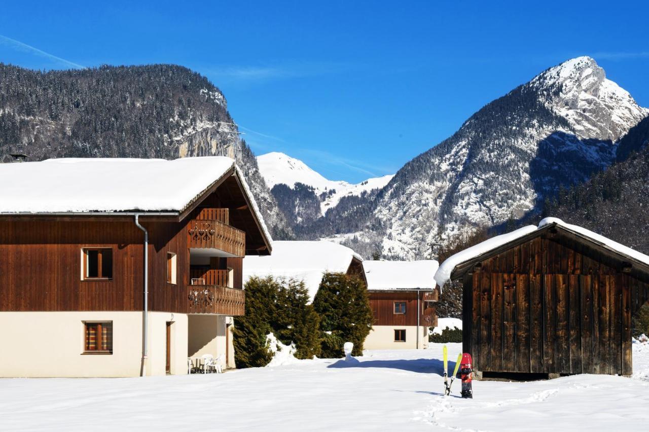
<instances>
[{"instance_id":1,"label":"upper carved wooden balcony railing on the large chalet","mask_svg":"<svg viewBox=\"0 0 649 432\"><path fill-rule=\"evenodd\" d=\"M221 221L190 221L187 235L190 248L219 249L234 256L245 256L245 232Z\"/></svg>"}]
</instances>

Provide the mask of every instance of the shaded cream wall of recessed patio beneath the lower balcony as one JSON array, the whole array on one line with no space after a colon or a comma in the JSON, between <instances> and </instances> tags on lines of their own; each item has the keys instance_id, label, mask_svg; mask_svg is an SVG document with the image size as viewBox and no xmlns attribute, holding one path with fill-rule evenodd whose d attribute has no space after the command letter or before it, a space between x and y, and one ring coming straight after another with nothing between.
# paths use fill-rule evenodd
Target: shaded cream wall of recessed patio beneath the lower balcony
<instances>
[{"instance_id":1,"label":"shaded cream wall of recessed patio beneath the lower balcony","mask_svg":"<svg viewBox=\"0 0 649 432\"><path fill-rule=\"evenodd\" d=\"M225 317L223 315L189 315L188 328L189 328L189 355L190 357L201 357L204 354L212 354L215 358L219 355L228 354L229 359L227 365L234 367L234 345L232 344L232 317ZM229 332L229 337L225 336L225 332ZM226 342L228 342L228 350L226 350ZM226 353L227 351L227 353ZM226 366L225 359L220 362L222 366Z\"/></svg>"}]
</instances>

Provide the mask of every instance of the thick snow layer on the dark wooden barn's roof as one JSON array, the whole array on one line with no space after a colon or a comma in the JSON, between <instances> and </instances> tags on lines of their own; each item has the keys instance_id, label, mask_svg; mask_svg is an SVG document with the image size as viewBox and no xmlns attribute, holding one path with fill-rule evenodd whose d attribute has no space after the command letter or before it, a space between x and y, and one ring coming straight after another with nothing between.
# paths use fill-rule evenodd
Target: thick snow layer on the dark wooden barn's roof
<instances>
[{"instance_id":1,"label":"thick snow layer on the dark wooden barn's roof","mask_svg":"<svg viewBox=\"0 0 649 432\"><path fill-rule=\"evenodd\" d=\"M622 256L626 256L635 261L649 265L649 256L646 256L645 254L638 252L637 250L633 250L628 246L621 245L620 243L617 243L617 241L613 241L607 237L604 237L604 235L597 234L595 232L592 232L591 230L582 228L581 226L563 222L561 221L561 219L557 219L556 217L546 217L541 222L539 222L538 226L528 225L508 234L496 235L496 237L492 237L489 240L485 240L482 243L478 243L475 246L471 246L470 248L467 248L453 256L450 256L439 266L437 272L435 272L435 281L437 281L439 286L443 286L450 279L453 270L459 264L471 261L471 259L494 250L495 248L506 245L507 243L515 241L520 237L525 237L528 234L531 234L537 230L541 230L542 228L545 228L546 226L552 224L561 226L561 228L564 228L565 230L568 230L577 235L581 235L582 237L590 239L595 243L599 243L612 252L616 252L617 254L620 254Z\"/></svg>"}]
</instances>

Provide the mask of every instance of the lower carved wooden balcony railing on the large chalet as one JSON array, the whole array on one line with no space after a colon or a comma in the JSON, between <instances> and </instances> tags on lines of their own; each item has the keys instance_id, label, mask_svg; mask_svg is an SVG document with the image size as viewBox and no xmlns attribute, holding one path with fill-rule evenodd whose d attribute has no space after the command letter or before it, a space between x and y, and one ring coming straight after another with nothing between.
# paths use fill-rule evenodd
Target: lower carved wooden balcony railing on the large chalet
<instances>
[{"instance_id":1,"label":"lower carved wooden balcony railing on the large chalet","mask_svg":"<svg viewBox=\"0 0 649 432\"><path fill-rule=\"evenodd\" d=\"M243 315L245 291L217 285L187 285L188 313Z\"/></svg>"}]
</instances>

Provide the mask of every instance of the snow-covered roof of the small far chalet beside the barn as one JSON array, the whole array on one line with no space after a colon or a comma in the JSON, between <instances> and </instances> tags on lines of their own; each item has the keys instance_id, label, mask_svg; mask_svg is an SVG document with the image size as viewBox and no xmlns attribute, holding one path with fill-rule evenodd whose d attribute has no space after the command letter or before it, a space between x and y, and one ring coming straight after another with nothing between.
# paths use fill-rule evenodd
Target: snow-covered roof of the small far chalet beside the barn
<instances>
[{"instance_id":1,"label":"snow-covered roof of the small far chalet beside the barn","mask_svg":"<svg viewBox=\"0 0 649 432\"><path fill-rule=\"evenodd\" d=\"M367 289L390 291L400 289L435 289L434 259L420 261L363 261Z\"/></svg>"}]
</instances>

